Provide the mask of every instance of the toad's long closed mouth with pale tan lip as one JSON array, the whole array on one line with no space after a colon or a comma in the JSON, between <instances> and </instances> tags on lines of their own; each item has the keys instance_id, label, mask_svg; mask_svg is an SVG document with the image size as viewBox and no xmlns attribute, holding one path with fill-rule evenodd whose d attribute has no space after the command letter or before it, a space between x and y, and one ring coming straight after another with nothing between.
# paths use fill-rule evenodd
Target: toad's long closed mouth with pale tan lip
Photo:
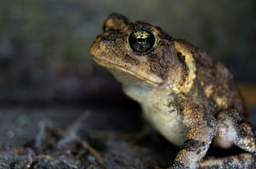
<instances>
[{"instance_id":1,"label":"toad's long closed mouth with pale tan lip","mask_svg":"<svg viewBox=\"0 0 256 169\"><path fill-rule=\"evenodd\" d=\"M129 73L130 75L133 75L134 77L138 77L141 80L148 82L148 84L157 86L161 84L161 82L163 82L161 78L157 77L156 75L150 75L149 73L146 73L143 70L135 70L132 68L128 69L128 68L125 68L125 66L120 66L113 62L104 61L104 59L99 59L95 56L92 56L92 57L100 66L104 66L106 68L113 68L114 70L124 71L126 73Z\"/></svg>"}]
</instances>

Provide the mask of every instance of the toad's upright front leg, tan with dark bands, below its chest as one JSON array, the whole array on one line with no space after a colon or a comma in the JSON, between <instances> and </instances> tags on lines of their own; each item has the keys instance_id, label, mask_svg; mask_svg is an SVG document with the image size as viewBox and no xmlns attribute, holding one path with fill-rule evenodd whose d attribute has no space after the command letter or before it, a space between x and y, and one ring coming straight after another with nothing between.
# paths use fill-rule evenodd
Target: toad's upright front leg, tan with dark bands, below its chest
<instances>
[{"instance_id":1,"label":"toad's upright front leg, tan with dark bands, below its chest","mask_svg":"<svg viewBox=\"0 0 256 169\"><path fill-rule=\"evenodd\" d=\"M189 103L182 103L179 115L189 133L170 168L198 168L216 133L216 119Z\"/></svg>"}]
</instances>

